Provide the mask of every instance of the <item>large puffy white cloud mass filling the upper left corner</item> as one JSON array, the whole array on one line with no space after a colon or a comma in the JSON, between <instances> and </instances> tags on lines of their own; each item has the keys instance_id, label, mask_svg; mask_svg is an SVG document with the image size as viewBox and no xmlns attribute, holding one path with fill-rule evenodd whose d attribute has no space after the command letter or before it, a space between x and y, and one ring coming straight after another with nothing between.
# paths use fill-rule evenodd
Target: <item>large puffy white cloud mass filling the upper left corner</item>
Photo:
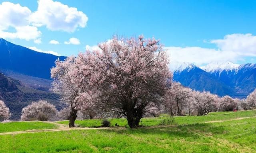
<instances>
[{"instance_id":1,"label":"large puffy white cloud mass filling the upper left corner","mask_svg":"<svg viewBox=\"0 0 256 153\"><path fill-rule=\"evenodd\" d=\"M7 39L33 40L39 44L42 43L42 32L38 29L41 26L52 31L73 32L85 27L87 21L83 12L53 0L38 0L35 12L20 4L0 4L0 37Z\"/></svg>"}]
</instances>

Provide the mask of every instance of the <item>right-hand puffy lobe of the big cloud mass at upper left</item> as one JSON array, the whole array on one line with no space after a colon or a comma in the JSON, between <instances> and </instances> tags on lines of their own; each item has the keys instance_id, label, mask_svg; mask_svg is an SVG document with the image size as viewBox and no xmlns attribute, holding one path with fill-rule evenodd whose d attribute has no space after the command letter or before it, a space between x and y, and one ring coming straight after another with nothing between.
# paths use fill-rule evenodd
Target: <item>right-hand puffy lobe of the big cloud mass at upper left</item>
<instances>
[{"instance_id":1,"label":"right-hand puffy lobe of the big cloud mass at upper left","mask_svg":"<svg viewBox=\"0 0 256 153\"><path fill-rule=\"evenodd\" d=\"M77 27L85 27L88 17L77 8L52 0L38 0L38 10L30 16L34 26L46 26L52 31L73 32Z\"/></svg>"}]
</instances>

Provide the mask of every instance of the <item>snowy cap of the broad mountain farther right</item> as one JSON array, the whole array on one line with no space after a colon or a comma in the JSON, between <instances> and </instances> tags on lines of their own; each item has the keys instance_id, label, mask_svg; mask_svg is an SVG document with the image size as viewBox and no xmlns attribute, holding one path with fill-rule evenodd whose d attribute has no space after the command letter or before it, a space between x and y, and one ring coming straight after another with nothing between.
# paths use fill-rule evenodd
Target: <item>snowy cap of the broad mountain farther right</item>
<instances>
[{"instance_id":1,"label":"snowy cap of the broad mountain farther right","mask_svg":"<svg viewBox=\"0 0 256 153\"><path fill-rule=\"evenodd\" d=\"M201 69L203 69L206 72L215 72L215 71L232 71L232 70L237 70L238 67L240 65L239 64L234 64L230 61L226 61L224 63L210 63L204 67L201 67Z\"/></svg>"}]
</instances>

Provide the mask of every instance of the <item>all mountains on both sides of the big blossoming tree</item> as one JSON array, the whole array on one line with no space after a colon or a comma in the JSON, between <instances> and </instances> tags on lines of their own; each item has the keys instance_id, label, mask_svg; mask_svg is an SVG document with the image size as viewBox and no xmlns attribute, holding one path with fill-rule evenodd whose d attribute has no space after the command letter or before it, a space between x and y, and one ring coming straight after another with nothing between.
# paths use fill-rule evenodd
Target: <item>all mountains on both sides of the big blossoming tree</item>
<instances>
[{"instance_id":1,"label":"all mountains on both sides of the big blossoming tree","mask_svg":"<svg viewBox=\"0 0 256 153\"><path fill-rule=\"evenodd\" d=\"M50 69L64 56L40 53L0 38L0 100L4 100L18 119L23 107L45 99L64 107L60 97L50 91ZM192 63L170 63L174 81L194 90L219 96L245 98L256 88L256 64L210 63L198 67Z\"/></svg>"}]
</instances>

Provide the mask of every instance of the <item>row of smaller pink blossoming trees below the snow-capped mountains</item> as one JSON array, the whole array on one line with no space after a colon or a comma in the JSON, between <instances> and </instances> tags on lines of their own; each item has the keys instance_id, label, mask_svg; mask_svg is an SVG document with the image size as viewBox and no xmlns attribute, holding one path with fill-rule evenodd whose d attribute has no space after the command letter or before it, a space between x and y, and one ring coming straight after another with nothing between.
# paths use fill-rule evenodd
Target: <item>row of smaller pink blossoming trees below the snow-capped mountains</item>
<instances>
[{"instance_id":1,"label":"row of smaller pink blossoming trees below the snow-capped mountains","mask_svg":"<svg viewBox=\"0 0 256 153\"><path fill-rule=\"evenodd\" d=\"M194 91L173 82L168 92L164 97L163 110L172 116L206 115L209 112L256 108L256 90L241 100L230 96L219 97L206 91Z\"/></svg>"}]
</instances>

